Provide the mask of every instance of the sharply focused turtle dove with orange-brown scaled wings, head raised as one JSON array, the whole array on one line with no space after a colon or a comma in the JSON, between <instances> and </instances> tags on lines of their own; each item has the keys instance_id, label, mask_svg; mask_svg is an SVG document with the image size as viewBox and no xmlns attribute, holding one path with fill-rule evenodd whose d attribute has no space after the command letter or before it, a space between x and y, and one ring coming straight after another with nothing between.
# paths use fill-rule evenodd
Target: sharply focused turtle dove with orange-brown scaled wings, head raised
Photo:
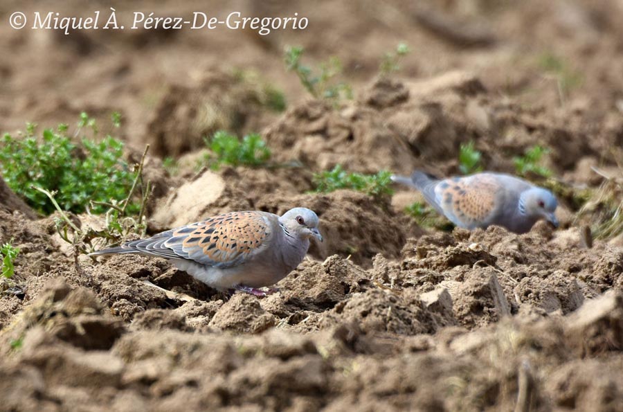
<instances>
[{"instance_id":1,"label":"sharply focused turtle dove with orange-brown scaled wings, head raised","mask_svg":"<svg viewBox=\"0 0 623 412\"><path fill-rule=\"evenodd\" d=\"M323 241L318 216L307 208L293 208L282 216L231 212L89 256L138 253L167 258L215 289L265 296L268 292L258 288L273 285L294 270L305 258L311 238Z\"/></svg>"}]
</instances>

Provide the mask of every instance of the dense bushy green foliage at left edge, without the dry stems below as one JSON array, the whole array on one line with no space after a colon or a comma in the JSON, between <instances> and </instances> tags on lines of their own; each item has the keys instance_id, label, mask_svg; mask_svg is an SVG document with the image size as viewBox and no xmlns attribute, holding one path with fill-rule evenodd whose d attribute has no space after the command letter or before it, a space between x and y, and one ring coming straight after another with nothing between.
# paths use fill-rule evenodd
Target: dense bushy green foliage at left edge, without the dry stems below
<instances>
[{"instance_id":1,"label":"dense bushy green foliage at left edge, without the dry stems below","mask_svg":"<svg viewBox=\"0 0 623 412\"><path fill-rule=\"evenodd\" d=\"M95 120L82 113L75 135L85 127L97 133ZM123 160L123 143L112 136L75 142L67 130L67 125L59 125L38 137L36 125L30 123L24 138L5 134L0 140L0 171L13 191L46 215L54 206L32 186L55 191L65 211L82 213L93 201L91 211L104 213L107 207L98 203L125 199L136 176ZM136 212L139 206L132 203L128 208Z\"/></svg>"}]
</instances>

